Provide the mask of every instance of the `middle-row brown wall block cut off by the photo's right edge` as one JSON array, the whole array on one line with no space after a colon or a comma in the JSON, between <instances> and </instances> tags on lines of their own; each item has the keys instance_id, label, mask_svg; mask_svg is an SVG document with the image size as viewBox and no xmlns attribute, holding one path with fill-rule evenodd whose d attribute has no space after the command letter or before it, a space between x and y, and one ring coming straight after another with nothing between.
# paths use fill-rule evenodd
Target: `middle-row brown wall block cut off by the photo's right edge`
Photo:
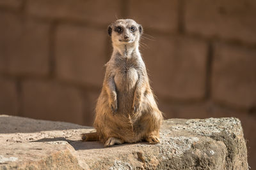
<instances>
[{"instance_id":1,"label":"middle-row brown wall block cut off by the photo's right edge","mask_svg":"<svg viewBox=\"0 0 256 170\"><path fill-rule=\"evenodd\" d=\"M237 107L256 106L256 50L218 43L214 46L212 97Z\"/></svg>"}]
</instances>

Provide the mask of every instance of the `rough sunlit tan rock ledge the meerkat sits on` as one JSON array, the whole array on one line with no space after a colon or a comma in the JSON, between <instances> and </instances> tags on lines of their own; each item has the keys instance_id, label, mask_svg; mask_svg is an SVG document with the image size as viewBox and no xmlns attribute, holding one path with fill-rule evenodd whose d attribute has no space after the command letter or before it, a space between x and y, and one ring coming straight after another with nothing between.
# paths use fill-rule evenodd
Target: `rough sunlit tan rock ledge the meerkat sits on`
<instances>
[{"instance_id":1,"label":"rough sunlit tan rock ledge the meerkat sits on","mask_svg":"<svg viewBox=\"0 0 256 170\"><path fill-rule=\"evenodd\" d=\"M92 127L0 115L0 169L248 169L237 118L169 119L161 143L104 148Z\"/></svg>"}]
</instances>

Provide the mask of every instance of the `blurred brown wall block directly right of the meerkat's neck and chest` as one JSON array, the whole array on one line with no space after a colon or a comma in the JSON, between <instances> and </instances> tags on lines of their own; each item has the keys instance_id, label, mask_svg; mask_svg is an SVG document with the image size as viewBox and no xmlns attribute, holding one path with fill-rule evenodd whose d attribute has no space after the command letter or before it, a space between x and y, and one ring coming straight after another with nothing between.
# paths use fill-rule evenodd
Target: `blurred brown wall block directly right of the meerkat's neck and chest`
<instances>
[{"instance_id":1,"label":"blurred brown wall block directly right of the meerkat's neck and chest","mask_svg":"<svg viewBox=\"0 0 256 170\"><path fill-rule=\"evenodd\" d=\"M154 36L141 49L159 97L202 99L205 95L207 45L179 36Z\"/></svg>"}]
</instances>

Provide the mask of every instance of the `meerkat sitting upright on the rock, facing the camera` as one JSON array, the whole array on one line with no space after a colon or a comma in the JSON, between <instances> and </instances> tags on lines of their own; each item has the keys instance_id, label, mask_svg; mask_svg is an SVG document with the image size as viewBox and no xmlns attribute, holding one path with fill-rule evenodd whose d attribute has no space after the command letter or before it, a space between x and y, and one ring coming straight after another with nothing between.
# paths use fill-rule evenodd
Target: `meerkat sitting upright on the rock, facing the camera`
<instances>
[{"instance_id":1,"label":"meerkat sitting upright on the rock, facing the camera","mask_svg":"<svg viewBox=\"0 0 256 170\"><path fill-rule=\"evenodd\" d=\"M143 28L131 19L116 20L108 27L113 54L95 108L96 132L82 134L83 141L112 146L148 141L159 143L163 115L157 107L141 58Z\"/></svg>"}]
</instances>

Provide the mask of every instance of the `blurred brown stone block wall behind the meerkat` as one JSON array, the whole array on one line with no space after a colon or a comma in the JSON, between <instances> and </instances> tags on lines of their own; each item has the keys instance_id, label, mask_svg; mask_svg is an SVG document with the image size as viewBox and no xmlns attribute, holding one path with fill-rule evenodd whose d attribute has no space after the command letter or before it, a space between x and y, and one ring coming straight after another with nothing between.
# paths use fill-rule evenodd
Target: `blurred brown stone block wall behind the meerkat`
<instances>
[{"instance_id":1,"label":"blurred brown stone block wall behind the meerkat","mask_svg":"<svg viewBox=\"0 0 256 170\"><path fill-rule=\"evenodd\" d=\"M255 0L1 0L0 113L92 125L118 18L165 118L240 118L256 167Z\"/></svg>"}]
</instances>

